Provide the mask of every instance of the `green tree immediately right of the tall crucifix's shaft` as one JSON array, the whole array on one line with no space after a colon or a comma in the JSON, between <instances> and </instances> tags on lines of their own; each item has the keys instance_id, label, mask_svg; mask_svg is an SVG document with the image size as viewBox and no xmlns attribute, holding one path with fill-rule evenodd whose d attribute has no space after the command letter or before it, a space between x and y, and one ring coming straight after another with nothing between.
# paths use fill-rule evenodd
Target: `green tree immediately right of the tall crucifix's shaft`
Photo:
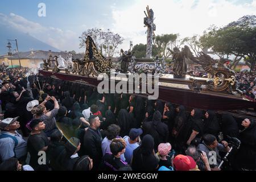
<instances>
[{"instance_id":1,"label":"green tree immediately right of the tall crucifix's shaft","mask_svg":"<svg viewBox=\"0 0 256 182\"><path fill-rule=\"evenodd\" d=\"M175 41L177 39L177 34L162 34L157 35L154 38L154 44L156 46L158 56L164 57L164 59L167 59L171 56L171 52L168 51L167 48L172 49Z\"/></svg>"}]
</instances>

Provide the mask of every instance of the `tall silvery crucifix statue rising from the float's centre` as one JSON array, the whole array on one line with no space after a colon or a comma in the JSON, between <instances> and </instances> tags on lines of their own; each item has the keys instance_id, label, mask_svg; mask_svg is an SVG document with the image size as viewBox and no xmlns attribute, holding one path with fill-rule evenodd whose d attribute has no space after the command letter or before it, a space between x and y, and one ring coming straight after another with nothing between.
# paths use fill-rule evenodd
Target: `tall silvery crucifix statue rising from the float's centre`
<instances>
[{"instance_id":1,"label":"tall silvery crucifix statue rising from the float's centre","mask_svg":"<svg viewBox=\"0 0 256 182\"><path fill-rule=\"evenodd\" d=\"M152 42L153 42L153 34L155 31L155 24L154 24L154 12L152 9L149 9L149 7L146 7L147 14L144 11L144 14L146 17L144 18L144 27L147 27L147 53L146 57L151 58L152 57Z\"/></svg>"}]
</instances>

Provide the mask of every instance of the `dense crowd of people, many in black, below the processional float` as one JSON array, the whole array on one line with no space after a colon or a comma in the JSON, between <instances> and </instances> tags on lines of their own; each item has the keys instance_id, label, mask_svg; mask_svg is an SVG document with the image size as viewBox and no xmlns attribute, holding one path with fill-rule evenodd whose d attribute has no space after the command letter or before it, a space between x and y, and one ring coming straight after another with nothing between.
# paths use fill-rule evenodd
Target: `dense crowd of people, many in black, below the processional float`
<instances>
[{"instance_id":1,"label":"dense crowd of people, many in black, below the processional float","mask_svg":"<svg viewBox=\"0 0 256 182\"><path fill-rule=\"evenodd\" d=\"M188 112L183 105L133 94L99 94L80 82L25 77L26 72L13 69L0 77L0 170L256 169L253 119ZM239 148L232 146L234 138ZM218 168L230 147L229 162Z\"/></svg>"}]
</instances>

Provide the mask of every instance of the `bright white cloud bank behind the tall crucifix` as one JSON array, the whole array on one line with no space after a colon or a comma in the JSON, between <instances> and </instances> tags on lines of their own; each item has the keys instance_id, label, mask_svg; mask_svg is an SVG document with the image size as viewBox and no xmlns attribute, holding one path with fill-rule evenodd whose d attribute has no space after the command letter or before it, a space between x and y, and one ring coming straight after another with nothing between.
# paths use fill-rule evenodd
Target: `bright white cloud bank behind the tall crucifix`
<instances>
[{"instance_id":1,"label":"bright white cloud bank behind the tall crucifix","mask_svg":"<svg viewBox=\"0 0 256 182\"><path fill-rule=\"evenodd\" d=\"M125 41L121 46L129 49L130 40L133 44L146 44L147 28L143 27L143 11L146 6L154 11L156 35L179 33L185 36L201 35L212 24L225 26L244 15L256 13L256 0L247 4L236 4L228 0L186 0L186 1L155 1L141 0L125 10L112 7L113 28L121 34Z\"/></svg>"}]
</instances>

